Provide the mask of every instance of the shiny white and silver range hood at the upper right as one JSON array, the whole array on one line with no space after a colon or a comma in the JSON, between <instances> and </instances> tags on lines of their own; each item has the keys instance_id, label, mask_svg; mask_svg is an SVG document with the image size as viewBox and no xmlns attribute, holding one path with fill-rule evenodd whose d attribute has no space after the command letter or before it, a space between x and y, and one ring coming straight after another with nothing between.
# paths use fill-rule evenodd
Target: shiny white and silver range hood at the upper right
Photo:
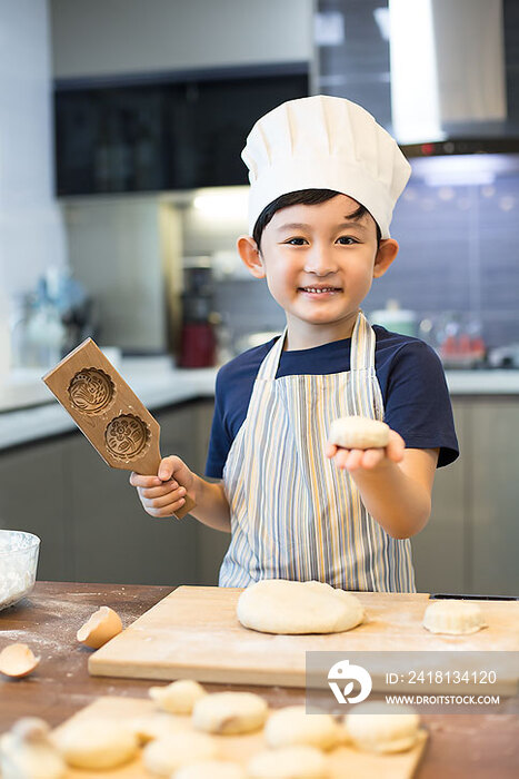
<instances>
[{"instance_id":1,"label":"shiny white and silver range hood at the upper right","mask_svg":"<svg viewBox=\"0 0 519 779\"><path fill-rule=\"evenodd\" d=\"M389 49L399 144L428 155L511 150L502 0L389 0Z\"/></svg>"}]
</instances>

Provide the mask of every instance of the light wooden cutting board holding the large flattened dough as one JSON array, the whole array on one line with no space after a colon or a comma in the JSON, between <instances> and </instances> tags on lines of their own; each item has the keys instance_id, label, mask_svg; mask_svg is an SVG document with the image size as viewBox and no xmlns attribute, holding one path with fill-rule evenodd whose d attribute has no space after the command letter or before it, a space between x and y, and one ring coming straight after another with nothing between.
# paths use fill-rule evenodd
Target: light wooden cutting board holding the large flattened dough
<instances>
[{"instance_id":1,"label":"light wooden cutting board holding the large flattened dough","mask_svg":"<svg viewBox=\"0 0 519 779\"><path fill-rule=\"evenodd\" d=\"M429 595L355 593L367 612L355 630L272 635L237 620L241 589L180 586L89 658L93 676L197 679L305 687L306 651L518 651L519 602L481 601L488 628L435 635L421 625Z\"/></svg>"}]
</instances>

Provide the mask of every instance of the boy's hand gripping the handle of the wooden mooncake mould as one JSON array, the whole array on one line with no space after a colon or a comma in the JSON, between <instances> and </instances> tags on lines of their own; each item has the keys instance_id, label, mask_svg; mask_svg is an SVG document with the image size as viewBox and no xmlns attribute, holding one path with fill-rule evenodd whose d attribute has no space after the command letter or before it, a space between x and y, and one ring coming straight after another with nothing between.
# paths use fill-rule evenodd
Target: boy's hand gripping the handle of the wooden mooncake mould
<instances>
[{"instance_id":1,"label":"boy's hand gripping the handle of the wooden mooncake mould","mask_svg":"<svg viewBox=\"0 0 519 779\"><path fill-rule=\"evenodd\" d=\"M158 476L141 476L131 472L130 484L137 487L142 506L151 516L172 516L192 492L194 474L186 463L171 455L160 461Z\"/></svg>"}]
</instances>

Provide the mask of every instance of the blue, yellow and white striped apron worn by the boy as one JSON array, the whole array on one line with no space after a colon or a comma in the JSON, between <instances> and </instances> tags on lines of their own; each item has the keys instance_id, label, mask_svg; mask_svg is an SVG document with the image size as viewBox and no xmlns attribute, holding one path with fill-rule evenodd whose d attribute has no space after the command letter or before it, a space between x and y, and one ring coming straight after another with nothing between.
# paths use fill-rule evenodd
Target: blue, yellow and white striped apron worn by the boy
<instances>
[{"instance_id":1,"label":"blue, yellow and white striped apron worn by the boy","mask_svg":"<svg viewBox=\"0 0 519 779\"><path fill-rule=\"evenodd\" d=\"M332 420L383 420L375 332L359 312L348 372L276 378L286 333L261 363L223 469L232 536L220 586L315 579L343 590L413 592L410 541L388 535L350 474L325 456Z\"/></svg>"}]
</instances>

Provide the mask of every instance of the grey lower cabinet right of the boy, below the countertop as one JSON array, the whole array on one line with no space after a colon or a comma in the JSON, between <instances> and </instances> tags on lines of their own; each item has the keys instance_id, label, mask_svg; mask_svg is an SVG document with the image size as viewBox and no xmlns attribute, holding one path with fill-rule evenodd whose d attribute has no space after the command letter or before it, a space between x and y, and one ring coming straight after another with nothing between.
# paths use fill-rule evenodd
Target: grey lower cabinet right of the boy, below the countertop
<instances>
[{"instance_id":1,"label":"grey lower cabinet right of the boy, below the countertop","mask_svg":"<svg viewBox=\"0 0 519 779\"><path fill-rule=\"evenodd\" d=\"M417 589L518 595L519 398L452 406L461 454L437 472L431 519L411 541Z\"/></svg>"}]
</instances>

